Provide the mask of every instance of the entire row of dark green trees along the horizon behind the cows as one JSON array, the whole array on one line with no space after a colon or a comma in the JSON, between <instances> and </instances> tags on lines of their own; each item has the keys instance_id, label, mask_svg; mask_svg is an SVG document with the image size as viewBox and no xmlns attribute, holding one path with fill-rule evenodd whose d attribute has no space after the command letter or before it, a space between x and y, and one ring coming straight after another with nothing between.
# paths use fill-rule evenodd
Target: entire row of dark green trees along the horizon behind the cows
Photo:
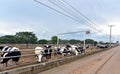
<instances>
[{"instance_id":1,"label":"entire row of dark green trees along the horizon behind the cows","mask_svg":"<svg viewBox=\"0 0 120 74\"><path fill-rule=\"evenodd\" d=\"M86 44L97 44L97 41L93 39L86 39ZM51 40L40 39L36 37L33 32L17 32L15 35L5 35L0 37L1 44L57 44L57 36L51 37ZM70 39L62 40L59 39L59 44L78 44L82 43L82 40Z\"/></svg>"}]
</instances>

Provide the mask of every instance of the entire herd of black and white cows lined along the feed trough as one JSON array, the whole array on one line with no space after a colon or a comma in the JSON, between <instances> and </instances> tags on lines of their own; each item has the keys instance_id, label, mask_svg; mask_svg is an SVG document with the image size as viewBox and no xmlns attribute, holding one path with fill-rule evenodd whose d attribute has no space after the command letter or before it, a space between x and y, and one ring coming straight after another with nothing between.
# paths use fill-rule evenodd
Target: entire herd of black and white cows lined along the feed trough
<instances>
[{"instance_id":1,"label":"entire herd of black and white cows lined along the feed trough","mask_svg":"<svg viewBox=\"0 0 120 74\"><path fill-rule=\"evenodd\" d=\"M98 48L107 48L106 45L98 45ZM86 46L86 48L89 48L89 46ZM11 46L0 46L1 50L1 58L0 63L5 64L7 66L8 61L11 59L15 64L18 64L18 61L21 57L21 51L17 47L11 47ZM46 59L51 59L51 54L56 55L79 55L84 54L85 49L81 46L75 46L75 45L66 45L64 47L55 47L53 50L51 48L51 45L45 45L44 48L37 46L35 49L35 55L38 58L38 62L42 61L43 57L46 57Z\"/></svg>"}]
</instances>

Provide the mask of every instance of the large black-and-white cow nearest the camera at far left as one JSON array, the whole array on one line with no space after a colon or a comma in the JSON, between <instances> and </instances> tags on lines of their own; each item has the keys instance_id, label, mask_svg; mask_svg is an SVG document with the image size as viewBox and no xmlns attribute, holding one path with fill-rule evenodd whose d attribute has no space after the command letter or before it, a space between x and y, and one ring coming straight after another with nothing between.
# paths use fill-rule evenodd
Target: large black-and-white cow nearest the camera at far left
<instances>
[{"instance_id":1,"label":"large black-and-white cow nearest the camera at far left","mask_svg":"<svg viewBox=\"0 0 120 74\"><path fill-rule=\"evenodd\" d=\"M7 66L7 62L10 59L12 59L12 61L18 64L18 61L21 56L21 52L19 48L11 47L11 46L0 46L0 50L2 51L1 60L0 60L2 64L5 63Z\"/></svg>"}]
</instances>

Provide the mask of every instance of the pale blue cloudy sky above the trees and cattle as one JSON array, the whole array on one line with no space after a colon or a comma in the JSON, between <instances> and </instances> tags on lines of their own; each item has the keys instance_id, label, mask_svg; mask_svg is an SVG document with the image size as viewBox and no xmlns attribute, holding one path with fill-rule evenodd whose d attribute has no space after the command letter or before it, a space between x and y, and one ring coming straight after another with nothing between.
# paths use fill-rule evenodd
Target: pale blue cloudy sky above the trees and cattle
<instances>
[{"instance_id":1,"label":"pale blue cloudy sky above the trees and cattle","mask_svg":"<svg viewBox=\"0 0 120 74\"><path fill-rule=\"evenodd\" d=\"M90 38L97 41L109 41L110 27L108 25L115 25L112 27L112 41L120 40L120 0L65 0L96 25L88 23L89 21L69 6L65 7L66 4L62 0L38 1L73 16L79 22L34 0L0 0L0 36L30 31L35 33L39 39L51 39L59 33L90 30L89 35L81 32L59 37L61 39ZM53 3L64 6L61 9Z\"/></svg>"}]
</instances>

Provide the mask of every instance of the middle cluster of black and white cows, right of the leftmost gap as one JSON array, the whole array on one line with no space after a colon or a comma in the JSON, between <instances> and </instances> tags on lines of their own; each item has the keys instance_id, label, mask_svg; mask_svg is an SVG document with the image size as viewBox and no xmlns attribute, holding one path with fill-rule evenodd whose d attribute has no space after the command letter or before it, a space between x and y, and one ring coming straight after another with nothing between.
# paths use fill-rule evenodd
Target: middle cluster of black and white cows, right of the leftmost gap
<instances>
[{"instance_id":1,"label":"middle cluster of black and white cows, right of the leftmost gap","mask_svg":"<svg viewBox=\"0 0 120 74\"><path fill-rule=\"evenodd\" d=\"M46 45L45 49L42 47L36 47L35 48L35 54L38 57L38 62L42 61L42 58L45 56L46 59L51 59L51 54L54 53L54 56L56 55L78 55L79 53L84 54L85 50L83 47L77 47L75 45L66 45L64 47L55 47L54 51L51 49L51 45Z\"/></svg>"}]
</instances>

